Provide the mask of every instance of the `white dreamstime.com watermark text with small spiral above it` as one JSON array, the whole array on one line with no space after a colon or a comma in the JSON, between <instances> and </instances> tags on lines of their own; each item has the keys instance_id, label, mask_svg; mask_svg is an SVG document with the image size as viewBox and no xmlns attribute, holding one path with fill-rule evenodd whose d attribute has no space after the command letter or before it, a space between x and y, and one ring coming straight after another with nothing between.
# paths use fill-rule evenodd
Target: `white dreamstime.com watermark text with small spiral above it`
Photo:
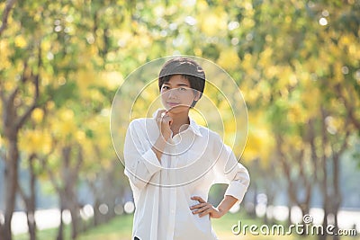
<instances>
[{"instance_id":1,"label":"white dreamstime.com watermark text with small spiral above it","mask_svg":"<svg viewBox=\"0 0 360 240\"><path fill-rule=\"evenodd\" d=\"M275 224L273 226L267 225L247 225L242 224L241 220L238 220L238 224L231 227L231 232L234 235L252 235L252 236L289 236L293 234L298 235L329 235L329 236L356 236L356 229L337 229L333 225L323 227L322 225L315 225L312 223L313 218L311 215L305 215L302 218L303 223L292 224L289 227Z\"/></svg>"}]
</instances>

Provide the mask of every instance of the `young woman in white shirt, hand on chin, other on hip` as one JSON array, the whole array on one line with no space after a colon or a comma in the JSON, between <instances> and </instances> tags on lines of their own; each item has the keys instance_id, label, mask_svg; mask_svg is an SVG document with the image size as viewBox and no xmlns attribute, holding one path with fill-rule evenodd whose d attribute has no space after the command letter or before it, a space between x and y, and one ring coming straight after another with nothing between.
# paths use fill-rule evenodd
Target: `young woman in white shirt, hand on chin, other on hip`
<instances>
[{"instance_id":1,"label":"young woman in white shirt, hand on chin, other on hip","mask_svg":"<svg viewBox=\"0 0 360 240\"><path fill-rule=\"evenodd\" d=\"M204 85L205 73L193 59L173 58L158 77L165 109L130 122L124 158L136 207L133 239L218 239L211 218L244 198L247 169L217 133L189 118ZM214 207L208 192L219 182L229 186Z\"/></svg>"}]
</instances>

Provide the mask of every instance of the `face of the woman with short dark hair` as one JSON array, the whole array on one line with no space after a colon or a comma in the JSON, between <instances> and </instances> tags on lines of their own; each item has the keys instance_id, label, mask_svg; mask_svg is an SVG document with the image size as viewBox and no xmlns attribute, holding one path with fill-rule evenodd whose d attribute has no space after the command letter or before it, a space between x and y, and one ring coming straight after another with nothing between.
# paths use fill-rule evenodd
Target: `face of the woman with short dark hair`
<instances>
[{"instance_id":1,"label":"face of the woman with short dark hair","mask_svg":"<svg viewBox=\"0 0 360 240\"><path fill-rule=\"evenodd\" d=\"M199 100L199 92L190 87L190 82L184 76L171 76L167 83L161 86L161 101L166 110L175 113L188 111L193 101Z\"/></svg>"}]
</instances>

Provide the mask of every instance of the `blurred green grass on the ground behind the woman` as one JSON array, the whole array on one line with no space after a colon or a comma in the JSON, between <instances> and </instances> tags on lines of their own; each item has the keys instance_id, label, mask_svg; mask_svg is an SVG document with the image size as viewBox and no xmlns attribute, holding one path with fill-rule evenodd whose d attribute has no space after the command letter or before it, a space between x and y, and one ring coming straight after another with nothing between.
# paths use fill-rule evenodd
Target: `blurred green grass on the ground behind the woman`
<instances>
[{"instance_id":1,"label":"blurred green grass on the ground behind the woman","mask_svg":"<svg viewBox=\"0 0 360 240\"><path fill-rule=\"evenodd\" d=\"M292 236L251 236L248 232L247 235L240 233L238 236L232 234L231 227L235 224L238 224L238 220L241 220L241 224L257 225L260 227L262 222L259 219L247 218L245 215L241 214L227 214L220 219L212 219L212 226L219 237L220 240L247 240L247 239L256 239L256 240L316 240L316 236L297 236L293 234ZM78 237L78 240L130 240L131 236L131 227L132 227L132 215L123 215L118 218L113 218L106 224L103 224L99 227L94 227L89 229L85 233L81 234ZM257 231L258 232L258 231ZM51 240L56 239L58 229L47 229L38 231L39 240ZM70 228L65 227L65 239L70 239ZM15 240L28 240L28 235L19 235L14 237ZM192 240L192 239L189 239ZM359 236L356 237L341 237L341 240L360 240Z\"/></svg>"}]
</instances>

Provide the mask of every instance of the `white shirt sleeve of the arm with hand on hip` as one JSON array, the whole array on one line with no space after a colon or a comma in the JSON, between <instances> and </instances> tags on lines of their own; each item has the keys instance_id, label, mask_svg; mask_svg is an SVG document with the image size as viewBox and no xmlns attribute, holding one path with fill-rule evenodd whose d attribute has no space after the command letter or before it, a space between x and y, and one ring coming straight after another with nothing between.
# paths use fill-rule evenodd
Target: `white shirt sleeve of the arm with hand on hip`
<instances>
[{"instance_id":1,"label":"white shirt sleeve of the arm with hand on hip","mask_svg":"<svg viewBox=\"0 0 360 240\"><path fill-rule=\"evenodd\" d=\"M214 166L216 183L228 183L225 195L233 196L241 202L247 192L250 177L247 169L238 160L231 148L223 144L220 136L214 142L214 155L216 163Z\"/></svg>"}]
</instances>

